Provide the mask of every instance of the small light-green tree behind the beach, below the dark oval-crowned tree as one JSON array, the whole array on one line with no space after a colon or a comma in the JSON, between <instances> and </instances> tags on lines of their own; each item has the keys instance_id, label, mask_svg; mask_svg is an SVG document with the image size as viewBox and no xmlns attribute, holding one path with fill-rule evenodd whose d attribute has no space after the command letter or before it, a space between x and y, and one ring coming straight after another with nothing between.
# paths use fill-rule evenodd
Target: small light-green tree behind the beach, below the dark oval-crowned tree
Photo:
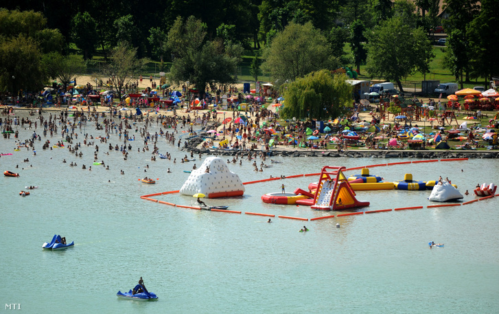
<instances>
[{"instance_id":1,"label":"small light-green tree behind the beach, below the dark oval-crowned tree","mask_svg":"<svg viewBox=\"0 0 499 314\"><path fill-rule=\"evenodd\" d=\"M62 56L58 52L45 54L42 58L43 69L47 76L56 79L64 85L64 90L78 74L83 73L85 69L82 60L73 54Z\"/></svg>"}]
</instances>

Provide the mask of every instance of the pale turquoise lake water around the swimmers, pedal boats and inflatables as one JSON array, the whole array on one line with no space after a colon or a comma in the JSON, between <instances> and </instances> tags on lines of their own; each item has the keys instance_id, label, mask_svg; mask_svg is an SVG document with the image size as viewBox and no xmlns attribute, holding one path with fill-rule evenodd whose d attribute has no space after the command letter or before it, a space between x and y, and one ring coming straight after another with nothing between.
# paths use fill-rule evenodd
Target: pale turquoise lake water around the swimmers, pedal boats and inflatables
<instances>
[{"instance_id":1,"label":"pale turquoise lake water around the swimmers, pedal boats and inflatables","mask_svg":"<svg viewBox=\"0 0 499 314\"><path fill-rule=\"evenodd\" d=\"M150 131L158 130L153 124ZM19 131L21 139L32 133L21 127ZM103 134L90 126L86 132ZM82 142L81 135L77 141ZM51 138L57 140L60 134ZM43 141L42 136L42 142L36 142L33 156L25 148L14 152L13 137L0 139L0 152L14 154L0 158L1 170L21 174L0 179L2 307L2 303L21 304L24 313L499 311L499 199L428 209L430 191L367 191L357 192L358 199L371 202L364 210L425 208L308 222L277 218L338 214L262 203L262 194L280 192L282 183L292 192L318 181L301 177L247 185L240 198L205 200L209 205L229 205L229 210L276 215L273 223L266 223L268 218L261 216L174 208L139 198L178 190L189 176L183 170L191 170L194 163L200 166L199 159L187 164L150 161L150 152L137 153L143 144L137 140L130 142L133 148L124 161L114 150L104 155L108 144L97 143L99 160L111 170L93 166L89 171L81 165L92 164L93 146L82 147L80 158L67 149L42 150ZM110 142L119 144L117 135ZM186 154L164 139L158 145L161 153L172 154L172 160ZM30 161L23 162L26 158ZM349 168L410 160L272 158L283 163L264 172L253 172L253 161L247 160L229 168L242 181L253 181L320 172L326 165ZM71 161L78 166L70 167ZM145 174L146 165L150 168ZM499 183L494 159L371 169L372 175L386 181L402 180L405 173L421 180L449 177L461 193L471 192L476 183ZM157 178L157 183L138 181L145 175ZM39 188L29 197L19 197L19 191L30 185ZM470 194L464 201L474 198ZM183 205L195 201L179 194L156 199ZM303 225L310 232L299 232ZM54 234L76 245L65 251L41 249ZM432 240L445 243L445 248L429 249ZM118 290L128 291L141 276L148 290L159 296L157 302L117 298Z\"/></svg>"}]
</instances>

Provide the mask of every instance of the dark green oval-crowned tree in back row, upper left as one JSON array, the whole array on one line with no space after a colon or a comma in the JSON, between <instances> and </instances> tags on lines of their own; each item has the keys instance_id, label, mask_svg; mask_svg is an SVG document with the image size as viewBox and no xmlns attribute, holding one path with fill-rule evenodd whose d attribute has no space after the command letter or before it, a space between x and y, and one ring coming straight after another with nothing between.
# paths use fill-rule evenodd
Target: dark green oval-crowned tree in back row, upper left
<instances>
[{"instance_id":1,"label":"dark green oval-crowned tree in back row, upper left","mask_svg":"<svg viewBox=\"0 0 499 314\"><path fill-rule=\"evenodd\" d=\"M89 12L78 12L71 21L71 30L76 47L83 52L83 59L91 59L98 42L98 38L95 36L97 31L95 19L90 16Z\"/></svg>"}]
</instances>

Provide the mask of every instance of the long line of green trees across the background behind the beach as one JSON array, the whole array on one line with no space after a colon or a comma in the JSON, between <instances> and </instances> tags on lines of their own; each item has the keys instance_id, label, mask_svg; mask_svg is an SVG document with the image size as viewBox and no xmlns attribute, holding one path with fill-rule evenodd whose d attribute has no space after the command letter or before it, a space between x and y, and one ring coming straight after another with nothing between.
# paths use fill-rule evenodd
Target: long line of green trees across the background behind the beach
<instances>
[{"instance_id":1,"label":"long line of green trees across the background behind the beach","mask_svg":"<svg viewBox=\"0 0 499 314\"><path fill-rule=\"evenodd\" d=\"M138 60L171 62L170 79L202 91L233 81L244 49L255 51L255 79L261 66L278 86L312 71L367 64L369 76L403 90L404 77L430 70L430 36L442 23L449 34L444 63L456 80L489 79L498 74L491 53L499 45L498 2L445 0L450 18L442 22L437 0L6 1L0 88L39 87L43 78L60 77L62 65L76 71L75 45L84 60L98 52L112 63L125 47Z\"/></svg>"}]
</instances>

